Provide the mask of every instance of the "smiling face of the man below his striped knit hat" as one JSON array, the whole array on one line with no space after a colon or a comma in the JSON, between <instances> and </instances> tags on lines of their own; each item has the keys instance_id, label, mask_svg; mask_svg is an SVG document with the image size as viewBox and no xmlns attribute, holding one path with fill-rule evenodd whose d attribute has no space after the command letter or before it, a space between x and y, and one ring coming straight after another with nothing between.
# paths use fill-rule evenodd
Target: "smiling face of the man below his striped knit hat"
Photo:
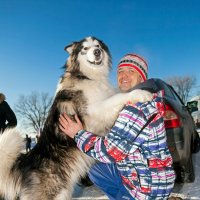
<instances>
[{"instance_id":1,"label":"smiling face of the man below his striped knit hat","mask_svg":"<svg viewBox=\"0 0 200 200\"><path fill-rule=\"evenodd\" d=\"M117 71L118 87L122 92L126 92L137 84L143 82L140 74L129 66L119 68Z\"/></svg>"}]
</instances>

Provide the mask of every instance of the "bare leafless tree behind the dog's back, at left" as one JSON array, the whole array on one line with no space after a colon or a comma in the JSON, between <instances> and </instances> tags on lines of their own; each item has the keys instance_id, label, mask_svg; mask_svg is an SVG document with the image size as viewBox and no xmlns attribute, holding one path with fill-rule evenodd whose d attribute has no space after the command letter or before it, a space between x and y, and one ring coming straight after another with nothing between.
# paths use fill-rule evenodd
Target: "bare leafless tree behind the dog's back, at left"
<instances>
[{"instance_id":1,"label":"bare leafless tree behind the dog's back, at left","mask_svg":"<svg viewBox=\"0 0 200 200\"><path fill-rule=\"evenodd\" d=\"M44 126L52 100L48 93L32 92L28 96L21 95L14 110L24 127L31 127L38 132Z\"/></svg>"}]
</instances>

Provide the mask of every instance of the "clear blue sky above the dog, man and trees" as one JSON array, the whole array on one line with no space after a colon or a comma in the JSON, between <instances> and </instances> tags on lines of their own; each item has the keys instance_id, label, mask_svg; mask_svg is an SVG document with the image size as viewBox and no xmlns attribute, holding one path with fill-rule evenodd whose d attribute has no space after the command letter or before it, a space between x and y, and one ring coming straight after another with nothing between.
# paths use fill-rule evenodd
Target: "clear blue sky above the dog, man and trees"
<instances>
[{"instance_id":1,"label":"clear blue sky above the dog, man and trees","mask_svg":"<svg viewBox=\"0 0 200 200\"><path fill-rule=\"evenodd\" d=\"M199 0L1 0L0 92L11 105L32 91L54 95L64 47L95 36L116 65L128 52L142 55L149 77L196 76L200 82Z\"/></svg>"}]
</instances>

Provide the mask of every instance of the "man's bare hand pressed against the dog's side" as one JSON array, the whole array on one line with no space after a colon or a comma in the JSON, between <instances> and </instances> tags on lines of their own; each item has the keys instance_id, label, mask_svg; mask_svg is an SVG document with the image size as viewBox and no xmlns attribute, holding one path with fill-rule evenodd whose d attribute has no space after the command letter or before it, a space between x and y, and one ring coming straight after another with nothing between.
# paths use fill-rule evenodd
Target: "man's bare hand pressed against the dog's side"
<instances>
[{"instance_id":1,"label":"man's bare hand pressed against the dog's side","mask_svg":"<svg viewBox=\"0 0 200 200\"><path fill-rule=\"evenodd\" d=\"M83 125L77 115L75 115L75 120L76 122L71 120L65 113L59 118L60 130L71 138L74 138L78 131L83 130Z\"/></svg>"}]
</instances>

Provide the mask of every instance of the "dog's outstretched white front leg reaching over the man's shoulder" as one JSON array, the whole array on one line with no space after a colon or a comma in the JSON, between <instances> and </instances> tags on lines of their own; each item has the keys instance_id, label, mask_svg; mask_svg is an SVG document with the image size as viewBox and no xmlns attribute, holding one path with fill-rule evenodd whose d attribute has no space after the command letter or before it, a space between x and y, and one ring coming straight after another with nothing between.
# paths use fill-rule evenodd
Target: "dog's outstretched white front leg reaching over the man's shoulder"
<instances>
[{"instance_id":1,"label":"dog's outstretched white front leg reaching over the man's shoulder","mask_svg":"<svg viewBox=\"0 0 200 200\"><path fill-rule=\"evenodd\" d=\"M102 131L109 130L113 125L118 113L123 106L128 102L137 103L145 102L152 99L152 94L144 90L133 90L129 93L118 93L112 97L97 102L88 107L88 114L90 119L88 120L88 129L94 133L103 135Z\"/></svg>"}]
</instances>

